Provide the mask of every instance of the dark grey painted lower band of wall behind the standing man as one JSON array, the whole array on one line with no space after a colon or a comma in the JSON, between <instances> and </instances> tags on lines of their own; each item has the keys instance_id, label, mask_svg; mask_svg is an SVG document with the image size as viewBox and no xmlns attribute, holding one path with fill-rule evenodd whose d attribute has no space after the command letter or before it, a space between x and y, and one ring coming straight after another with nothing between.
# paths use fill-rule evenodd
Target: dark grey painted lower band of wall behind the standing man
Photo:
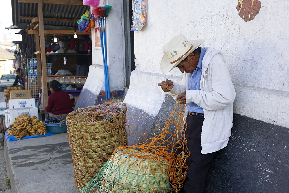
<instances>
[{"instance_id":1,"label":"dark grey painted lower band of wall behind the standing man","mask_svg":"<svg viewBox=\"0 0 289 193\"><path fill-rule=\"evenodd\" d=\"M174 107L169 95L155 117L128 105L129 145L159 134ZM212 160L205 192L289 192L289 129L238 114L233 123L228 146Z\"/></svg>"}]
</instances>

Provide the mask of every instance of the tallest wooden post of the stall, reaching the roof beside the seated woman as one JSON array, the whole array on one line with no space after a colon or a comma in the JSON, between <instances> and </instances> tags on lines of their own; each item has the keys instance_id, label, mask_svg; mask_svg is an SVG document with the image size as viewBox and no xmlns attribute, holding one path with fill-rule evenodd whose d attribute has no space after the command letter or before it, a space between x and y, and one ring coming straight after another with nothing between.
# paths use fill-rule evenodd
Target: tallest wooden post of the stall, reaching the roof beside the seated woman
<instances>
[{"instance_id":1,"label":"tallest wooden post of the stall, reaching the roof beside the seated woman","mask_svg":"<svg viewBox=\"0 0 289 193\"><path fill-rule=\"evenodd\" d=\"M48 91L47 91L47 76L46 76L45 37L44 37L42 0L37 0L37 3L38 3L38 18L39 18L41 66L42 66L41 106L45 107L48 102Z\"/></svg>"}]
</instances>

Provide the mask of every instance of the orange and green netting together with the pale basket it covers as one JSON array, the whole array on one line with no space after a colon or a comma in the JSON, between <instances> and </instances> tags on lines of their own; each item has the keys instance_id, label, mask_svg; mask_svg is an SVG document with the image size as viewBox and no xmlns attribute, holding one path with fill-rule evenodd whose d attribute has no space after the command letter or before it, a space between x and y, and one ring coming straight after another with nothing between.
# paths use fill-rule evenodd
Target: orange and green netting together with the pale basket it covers
<instances>
[{"instance_id":1,"label":"orange and green netting together with the pale basket it covers","mask_svg":"<svg viewBox=\"0 0 289 193\"><path fill-rule=\"evenodd\" d=\"M187 174L190 155L186 139L185 106L176 103L162 132L133 146L120 146L79 192L178 192ZM185 127L184 127L185 125ZM173 133L169 128L173 127ZM185 129L183 129L185 128Z\"/></svg>"}]
</instances>

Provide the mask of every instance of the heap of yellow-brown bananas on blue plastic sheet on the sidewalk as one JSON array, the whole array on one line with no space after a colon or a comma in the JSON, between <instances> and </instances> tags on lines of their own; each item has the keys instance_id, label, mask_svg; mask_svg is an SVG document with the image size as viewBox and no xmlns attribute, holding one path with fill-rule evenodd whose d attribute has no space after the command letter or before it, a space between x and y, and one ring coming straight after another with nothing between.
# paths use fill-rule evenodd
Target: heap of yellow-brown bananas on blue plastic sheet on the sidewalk
<instances>
[{"instance_id":1,"label":"heap of yellow-brown bananas on blue plastic sheet on the sidewalk","mask_svg":"<svg viewBox=\"0 0 289 193\"><path fill-rule=\"evenodd\" d=\"M36 116L30 118L28 114L19 115L7 130L8 135L17 139L32 135L45 135L46 126Z\"/></svg>"}]
</instances>

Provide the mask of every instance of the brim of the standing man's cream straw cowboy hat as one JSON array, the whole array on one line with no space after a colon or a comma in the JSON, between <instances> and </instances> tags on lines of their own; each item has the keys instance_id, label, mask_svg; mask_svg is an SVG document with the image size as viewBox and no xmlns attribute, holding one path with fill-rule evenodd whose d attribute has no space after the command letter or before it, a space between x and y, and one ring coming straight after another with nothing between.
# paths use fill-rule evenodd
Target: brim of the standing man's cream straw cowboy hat
<instances>
[{"instance_id":1,"label":"brim of the standing man's cream straw cowboy hat","mask_svg":"<svg viewBox=\"0 0 289 193\"><path fill-rule=\"evenodd\" d=\"M190 53L192 53L195 49L197 49L202 43L205 42L205 40L200 39L200 40L190 40L189 41L192 45L194 45L192 47L192 49L186 53L183 57L181 57L180 60L178 60L177 62L171 64L170 61L168 60L168 58L166 57L166 55L164 55L162 57L161 60L161 71L164 75L168 75L169 72L171 72L171 70L173 70L173 68L175 68L181 61L183 61L188 55L190 55Z\"/></svg>"}]
</instances>

